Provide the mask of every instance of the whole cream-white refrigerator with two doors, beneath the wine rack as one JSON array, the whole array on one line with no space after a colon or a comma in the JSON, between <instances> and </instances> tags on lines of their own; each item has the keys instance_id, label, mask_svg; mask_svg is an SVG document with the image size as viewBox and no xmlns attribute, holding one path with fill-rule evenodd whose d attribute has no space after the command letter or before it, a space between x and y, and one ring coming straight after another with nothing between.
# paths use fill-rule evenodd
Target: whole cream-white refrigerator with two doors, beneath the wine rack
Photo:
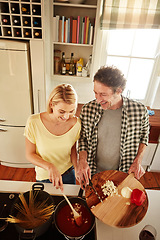
<instances>
[{"instance_id":1,"label":"whole cream-white refrigerator with two doors, beneath the wine rack","mask_svg":"<svg viewBox=\"0 0 160 240\"><path fill-rule=\"evenodd\" d=\"M33 113L29 44L0 39L0 162L32 167L25 158L24 127Z\"/></svg>"}]
</instances>

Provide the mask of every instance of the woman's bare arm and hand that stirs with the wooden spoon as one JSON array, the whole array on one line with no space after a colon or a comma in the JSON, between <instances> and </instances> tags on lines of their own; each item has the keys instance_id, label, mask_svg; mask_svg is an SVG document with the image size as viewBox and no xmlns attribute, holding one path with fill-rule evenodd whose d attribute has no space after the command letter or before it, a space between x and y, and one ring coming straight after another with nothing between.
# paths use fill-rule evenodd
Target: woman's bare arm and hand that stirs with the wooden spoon
<instances>
[{"instance_id":1,"label":"woman's bare arm and hand that stirs with the wooden spoon","mask_svg":"<svg viewBox=\"0 0 160 240\"><path fill-rule=\"evenodd\" d=\"M36 153L36 145L31 143L26 138L26 158L29 162L33 163L34 165L41 167L48 171L49 173L49 180L53 183L56 188L60 188L63 191L63 182L62 182L62 176L58 169L54 166L53 163L49 163L43 158L41 158Z\"/></svg>"}]
</instances>

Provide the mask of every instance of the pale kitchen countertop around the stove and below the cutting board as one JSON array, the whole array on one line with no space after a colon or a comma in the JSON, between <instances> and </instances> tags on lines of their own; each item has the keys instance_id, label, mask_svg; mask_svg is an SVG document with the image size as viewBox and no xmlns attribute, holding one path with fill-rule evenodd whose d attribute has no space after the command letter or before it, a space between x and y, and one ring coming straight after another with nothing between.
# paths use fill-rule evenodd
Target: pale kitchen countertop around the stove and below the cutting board
<instances>
[{"instance_id":1,"label":"pale kitchen countertop around the stove and below the cutting board","mask_svg":"<svg viewBox=\"0 0 160 240\"><path fill-rule=\"evenodd\" d=\"M31 189L33 182L20 182L20 181L4 181L0 180L0 191L1 192L27 192ZM64 193L68 196L77 196L79 192L79 185L64 185ZM44 191L52 195L62 195L59 189L54 188L51 184L44 184ZM141 229L150 224L157 230L157 240L160 240L160 191L158 190L147 190L149 199L149 207L147 214L143 220L134 227L120 229L110 227L98 219L96 219L96 232L97 240L138 240L139 232Z\"/></svg>"}]
</instances>

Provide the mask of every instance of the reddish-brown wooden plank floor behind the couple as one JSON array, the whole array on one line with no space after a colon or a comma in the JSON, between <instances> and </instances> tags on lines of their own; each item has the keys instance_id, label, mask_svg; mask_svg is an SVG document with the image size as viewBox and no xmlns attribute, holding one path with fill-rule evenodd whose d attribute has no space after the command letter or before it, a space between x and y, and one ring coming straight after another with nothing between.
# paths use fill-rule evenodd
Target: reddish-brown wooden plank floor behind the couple
<instances>
[{"instance_id":1,"label":"reddish-brown wooden plank floor behind the couple","mask_svg":"<svg viewBox=\"0 0 160 240\"><path fill-rule=\"evenodd\" d=\"M0 180L35 182L34 168L14 168L0 165ZM160 172L146 172L140 179L146 189L160 190Z\"/></svg>"}]
</instances>

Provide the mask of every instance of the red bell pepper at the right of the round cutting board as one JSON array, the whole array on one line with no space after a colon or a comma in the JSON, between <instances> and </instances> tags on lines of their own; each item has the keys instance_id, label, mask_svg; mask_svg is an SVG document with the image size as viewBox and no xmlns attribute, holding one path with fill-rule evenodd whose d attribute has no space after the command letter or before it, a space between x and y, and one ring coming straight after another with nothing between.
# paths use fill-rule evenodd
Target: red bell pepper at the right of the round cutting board
<instances>
[{"instance_id":1,"label":"red bell pepper at the right of the round cutting board","mask_svg":"<svg viewBox=\"0 0 160 240\"><path fill-rule=\"evenodd\" d=\"M144 203L145 199L145 192L141 191L138 188L133 189L131 193L131 203L135 203L137 206L140 206Z\"/></svg>"}]
</instances>

